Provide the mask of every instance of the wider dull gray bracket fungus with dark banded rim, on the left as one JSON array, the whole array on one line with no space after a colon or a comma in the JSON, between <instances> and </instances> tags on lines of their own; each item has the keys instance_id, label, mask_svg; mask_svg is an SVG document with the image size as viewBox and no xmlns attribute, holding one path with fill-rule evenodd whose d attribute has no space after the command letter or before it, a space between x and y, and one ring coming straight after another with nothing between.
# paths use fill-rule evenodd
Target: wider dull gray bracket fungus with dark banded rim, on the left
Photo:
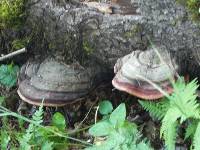
<instances>
[{"instance_id":1,"label":"wider dull gray bracket fungus with dark banded rim, on the left","mask_svg":"<svg viewBox=\"0 0 200 150\"><path fill-rule=\"evenodd\" d=\"M94 88L98 67L66 65L48 58L41 63L30 62L20 71L18 95L23 101L44 106L63 106L75 102Z\"/></svg>"}]
</instances>

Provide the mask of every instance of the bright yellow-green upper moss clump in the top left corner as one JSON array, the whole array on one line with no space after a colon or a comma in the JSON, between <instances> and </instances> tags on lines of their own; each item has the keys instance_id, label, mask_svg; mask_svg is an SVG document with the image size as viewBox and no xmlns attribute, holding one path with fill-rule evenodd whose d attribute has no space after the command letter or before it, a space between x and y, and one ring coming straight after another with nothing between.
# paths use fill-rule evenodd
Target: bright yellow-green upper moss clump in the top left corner
<instances>
[{"instance_id":1,"label":"bright yellow-green upper moss clump in the top left corner","mask_svg":"<svg viewBox=\"0 0 200 150\"><path fill-rule=\"evenodd\" d=\"M0 29L19 28L25 20L27 0L0 1Z\"/></svg>"}]
</instances>

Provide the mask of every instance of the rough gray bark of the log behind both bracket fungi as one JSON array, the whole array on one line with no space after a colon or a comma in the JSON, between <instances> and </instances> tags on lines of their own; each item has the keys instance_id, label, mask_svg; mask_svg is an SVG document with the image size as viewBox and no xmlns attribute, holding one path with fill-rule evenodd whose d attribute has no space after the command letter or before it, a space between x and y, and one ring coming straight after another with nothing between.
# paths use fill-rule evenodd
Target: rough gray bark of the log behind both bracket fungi
<instances>
[{"instance_id":1,"label":"rough gray bark of the log behind both bracket fungi","mask_svg":"<svg viewBox=\"0 0 200 150\"><path fill-rule=\"evenodd\" d=\"M98 62L113 68L117 58L134 50L166 46L182 72L199 74L199 27L175 0L133 0L140 15L103 14L77 2L31 0L28 26L35 55L67 63ZM91 60L92 59L92 60Z\"/></svg>"}]
</instances>

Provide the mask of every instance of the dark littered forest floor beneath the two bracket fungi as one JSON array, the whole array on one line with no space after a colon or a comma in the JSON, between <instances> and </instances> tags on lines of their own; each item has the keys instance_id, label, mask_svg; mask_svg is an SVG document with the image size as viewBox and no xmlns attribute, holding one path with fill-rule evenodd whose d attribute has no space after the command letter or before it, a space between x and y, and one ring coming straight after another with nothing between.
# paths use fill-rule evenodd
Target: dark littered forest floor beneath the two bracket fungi
<instances>
[{"instance_id":1,"label":"dark littered forest floor beneath the two bracket fungi","mask_svg":"<svg viewBox=\"0 0 200 150\"><path fill-rule=\"evenodd\" d=\"M27 103L23 103L17 95L16 88L12 90L1 88L1 95L6 97L6 107L8 109L17 113L19 113L20 109L20 113L24 116L31 117L37 108ZM87 129L95 123L95 120L98 121L102 119L101 115L98 114L96 116L95 114L99 102L103 100L111 101L114 108L116 108L120 103L125 103L127 109L127 120L138 125L139 131L143 134L144 138L147 138L150 141L154 149L162 149L163 141L159 138L160 123L151 119L149 114L139 105L137 98L114 89L111 82L100 85L88 96L76 103L58 108L45 107L44 124L49 125L52 114L55 112L61 112L65 116L67 130L69 132L86 129L73 135L75 138L92 142L93 138L88 134ZM13 121L13 119L11 120L11 126L13 128L19 128L15 121ZM178 142L181 144L183 143L183 140L179 139ZM80 147L70 147L70 150L77 149L80 149Z\"/></svg>"}]
</instances>

